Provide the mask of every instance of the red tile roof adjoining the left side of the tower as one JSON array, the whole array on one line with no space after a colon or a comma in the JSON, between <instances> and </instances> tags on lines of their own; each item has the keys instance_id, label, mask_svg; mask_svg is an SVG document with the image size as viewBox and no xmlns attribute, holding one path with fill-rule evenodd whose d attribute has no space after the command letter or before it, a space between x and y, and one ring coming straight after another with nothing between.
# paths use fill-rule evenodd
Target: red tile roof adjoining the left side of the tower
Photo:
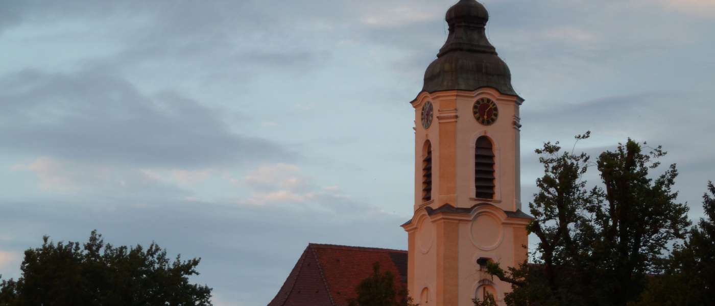
<instances>
[{"instance_id":1,"label":"red tile roof adjoining the left side of the tower","mask_svg":"<svg viewBox=\"0 0 715 306\"><path fill-rule=\"evenodd\" d=\"M375 262L395 275L395 288L406 287L407 251L311 243L268 306L347 305Z\"/></svg>"}]
</instances>

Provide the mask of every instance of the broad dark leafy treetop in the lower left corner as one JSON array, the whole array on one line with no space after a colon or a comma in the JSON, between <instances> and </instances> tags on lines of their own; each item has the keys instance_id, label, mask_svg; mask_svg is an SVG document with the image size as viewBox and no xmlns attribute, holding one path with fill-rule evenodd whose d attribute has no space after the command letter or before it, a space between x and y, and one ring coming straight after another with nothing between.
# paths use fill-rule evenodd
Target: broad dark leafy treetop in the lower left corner
<instances>
[{"instance_id":1,"label":"broad dark leafy treetop in the lower left corner","mask_svg":"<svg viewBox=\"0 0 715 306\"><path fill-rule=\"evenodd\" d=\"M0 283L0 306L212 305L211 288L189 283L199 261L169 260L156 243L114 247L96 230L83 245L45 236L25 251L22 276Z\"/></svg>"}]
</instances>

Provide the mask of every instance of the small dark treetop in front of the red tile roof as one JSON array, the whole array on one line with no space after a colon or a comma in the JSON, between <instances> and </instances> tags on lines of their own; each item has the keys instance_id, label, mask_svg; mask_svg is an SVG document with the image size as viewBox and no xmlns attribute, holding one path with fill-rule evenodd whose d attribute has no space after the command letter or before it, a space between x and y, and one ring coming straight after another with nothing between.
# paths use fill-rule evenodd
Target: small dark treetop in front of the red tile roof
<instances>
[{"instance_id":1,"label":"small dark treetop in front of the red tile roof","mask_svg":"<svg viewBox=\"0 0 715 306\"><path fill-rule=\"evenodd\" d=\"M358 298L351 300L350 306L418 306L407 290L395 289L392 272L380 272L380 262L373 264L373 275L361 281L355 292Z\"/></svg>"}]
</instances>

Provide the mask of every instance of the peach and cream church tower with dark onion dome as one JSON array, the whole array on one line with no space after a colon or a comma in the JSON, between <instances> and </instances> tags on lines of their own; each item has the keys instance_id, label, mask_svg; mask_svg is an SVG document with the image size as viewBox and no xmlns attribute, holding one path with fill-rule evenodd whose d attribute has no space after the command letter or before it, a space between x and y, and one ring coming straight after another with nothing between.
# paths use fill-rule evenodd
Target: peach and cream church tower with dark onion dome
<instances>
[{"instance_id":1,"label":"peach and cream church tower with dark onion dome","mask_svg":"<svg viewBox=\"0 0 715 306\"><path fill-rule=\"evenodd\" d=\"M421 306L469 306L511 285L485 272L527 257L521 212L519 106L511 73L485 36L488 13L460 0L449 36L425 71L415 108L415 203L408 232L408 289Z\"/></svg>"}]
</instances>

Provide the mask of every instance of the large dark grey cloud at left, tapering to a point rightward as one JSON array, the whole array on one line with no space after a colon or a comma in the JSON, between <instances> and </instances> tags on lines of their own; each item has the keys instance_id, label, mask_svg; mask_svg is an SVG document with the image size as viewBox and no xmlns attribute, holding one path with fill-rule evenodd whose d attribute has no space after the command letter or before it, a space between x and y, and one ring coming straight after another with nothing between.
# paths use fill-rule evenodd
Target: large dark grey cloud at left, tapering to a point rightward
<instances>
[{"instance_id":1,"label":"large dark grey cloud at left, tapering to a point rightward","mask_svg":"<svg viewBox=\"0 0 715 306\"><path fill-rule=\"evenodd\" d=\"M140 93L98 71L21 71L0 78L5 151L71 160L197 168L295 154L234 133L220 113L177 93Z\"/></svg>"}]
</instances>

